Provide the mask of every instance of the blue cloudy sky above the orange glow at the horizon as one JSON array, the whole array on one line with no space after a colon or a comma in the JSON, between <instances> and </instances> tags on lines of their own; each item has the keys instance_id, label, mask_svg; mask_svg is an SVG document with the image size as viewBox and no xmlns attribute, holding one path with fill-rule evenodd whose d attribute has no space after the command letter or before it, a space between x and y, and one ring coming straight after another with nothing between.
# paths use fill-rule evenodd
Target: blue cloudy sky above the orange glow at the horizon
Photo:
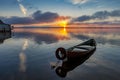
<instances>
[{"instance_id":1,"label":"blue cloudy sky above the orange glow at the horizon","mask_svg":"<svg viewBox=\"0 0 120 80\"><path fill-rule=\"evenodd\" d=\"M120 0L0 0L0 19L10 24L48 23L58 18L120 23L119 3Z\"/></svg>"}]
</instances>

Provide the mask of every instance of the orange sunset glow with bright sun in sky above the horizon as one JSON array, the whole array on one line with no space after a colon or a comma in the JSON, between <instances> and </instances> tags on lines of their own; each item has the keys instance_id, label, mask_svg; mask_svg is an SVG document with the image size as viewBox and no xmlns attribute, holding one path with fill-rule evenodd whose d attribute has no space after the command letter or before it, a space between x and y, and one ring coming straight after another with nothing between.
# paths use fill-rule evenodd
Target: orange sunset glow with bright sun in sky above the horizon
<instances>
[{"instance_id":1,"label":"orange sunset glow with bright sun in sky above the horizon","mask_svg":"<svg viewBox=\"0 0 120 80\"><path fill-rule=\"evenodd\" d=\"M53 22L38 22L31 24L13 24L15 27L26 27L26 26L35 26L35 27L66 27L68 22L70 21L70 17L68 16L60 16L56 18Z\"/></svg>"}]
</instances>

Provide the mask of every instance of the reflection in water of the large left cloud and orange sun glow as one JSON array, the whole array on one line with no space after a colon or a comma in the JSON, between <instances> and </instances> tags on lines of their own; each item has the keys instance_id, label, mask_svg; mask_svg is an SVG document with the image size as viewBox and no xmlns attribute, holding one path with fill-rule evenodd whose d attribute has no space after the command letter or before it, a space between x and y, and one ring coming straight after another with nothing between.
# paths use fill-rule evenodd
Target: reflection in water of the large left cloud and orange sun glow
<instances>
[{"instance_id":1,"label":"reflection in water of the large left cloud and orange sun glow","mask_svg":"<svg viewBox=\"0 0 120 80\"><path fill-rule=\"evenodd\" d=\"M66 30L64 29L18 29L15 32L15 38L28 38L30 40L34 40L36 43L54 43L58 42L59 40L69 40L70 36L67 34Z\"/></svg>"}]
</instances>

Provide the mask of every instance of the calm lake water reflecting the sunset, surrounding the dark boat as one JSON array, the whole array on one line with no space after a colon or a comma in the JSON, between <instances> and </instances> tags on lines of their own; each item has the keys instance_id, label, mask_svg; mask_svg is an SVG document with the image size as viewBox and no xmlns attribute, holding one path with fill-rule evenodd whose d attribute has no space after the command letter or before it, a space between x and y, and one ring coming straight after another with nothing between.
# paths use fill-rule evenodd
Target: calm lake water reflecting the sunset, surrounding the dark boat
<instances>
[{"instance_id":1,"label":"calm lake water reflecting the sunset, surrounding the dark boat","mask_svg":"<svg viewBox=\"0 0 120 80\"><path fill-rule=\"evenodd\" d=\"M94 54L65 78L56 74L51 65L62 63L56 49L90 38L97 42ZM120 80L119 76L120 29L17 28L0 33L0 80Z\"/></svg>"}]
</instances>

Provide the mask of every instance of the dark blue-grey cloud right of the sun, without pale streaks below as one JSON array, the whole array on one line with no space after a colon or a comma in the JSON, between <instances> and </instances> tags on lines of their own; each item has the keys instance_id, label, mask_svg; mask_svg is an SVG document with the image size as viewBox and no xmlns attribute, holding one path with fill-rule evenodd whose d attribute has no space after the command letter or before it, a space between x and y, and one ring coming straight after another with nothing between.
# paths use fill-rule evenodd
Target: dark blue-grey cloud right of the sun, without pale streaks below
<instances>
[{"instance_id":1,"label":"dark blue-grey cloud right of the sun, without pale streaks below","mask_svg":"<svg viewBox=\"0 0 120 80\"><path fill-rule=\"evenodd\" d=\"M114 10L111 12L99 11L90 16L88 15L80 16L74 19L73 21L84 22L84 21L94 20L94 19L104 20L104 19L107 19L108 17L120 17L120 10Z\"/></svg>"}]
</instances>

